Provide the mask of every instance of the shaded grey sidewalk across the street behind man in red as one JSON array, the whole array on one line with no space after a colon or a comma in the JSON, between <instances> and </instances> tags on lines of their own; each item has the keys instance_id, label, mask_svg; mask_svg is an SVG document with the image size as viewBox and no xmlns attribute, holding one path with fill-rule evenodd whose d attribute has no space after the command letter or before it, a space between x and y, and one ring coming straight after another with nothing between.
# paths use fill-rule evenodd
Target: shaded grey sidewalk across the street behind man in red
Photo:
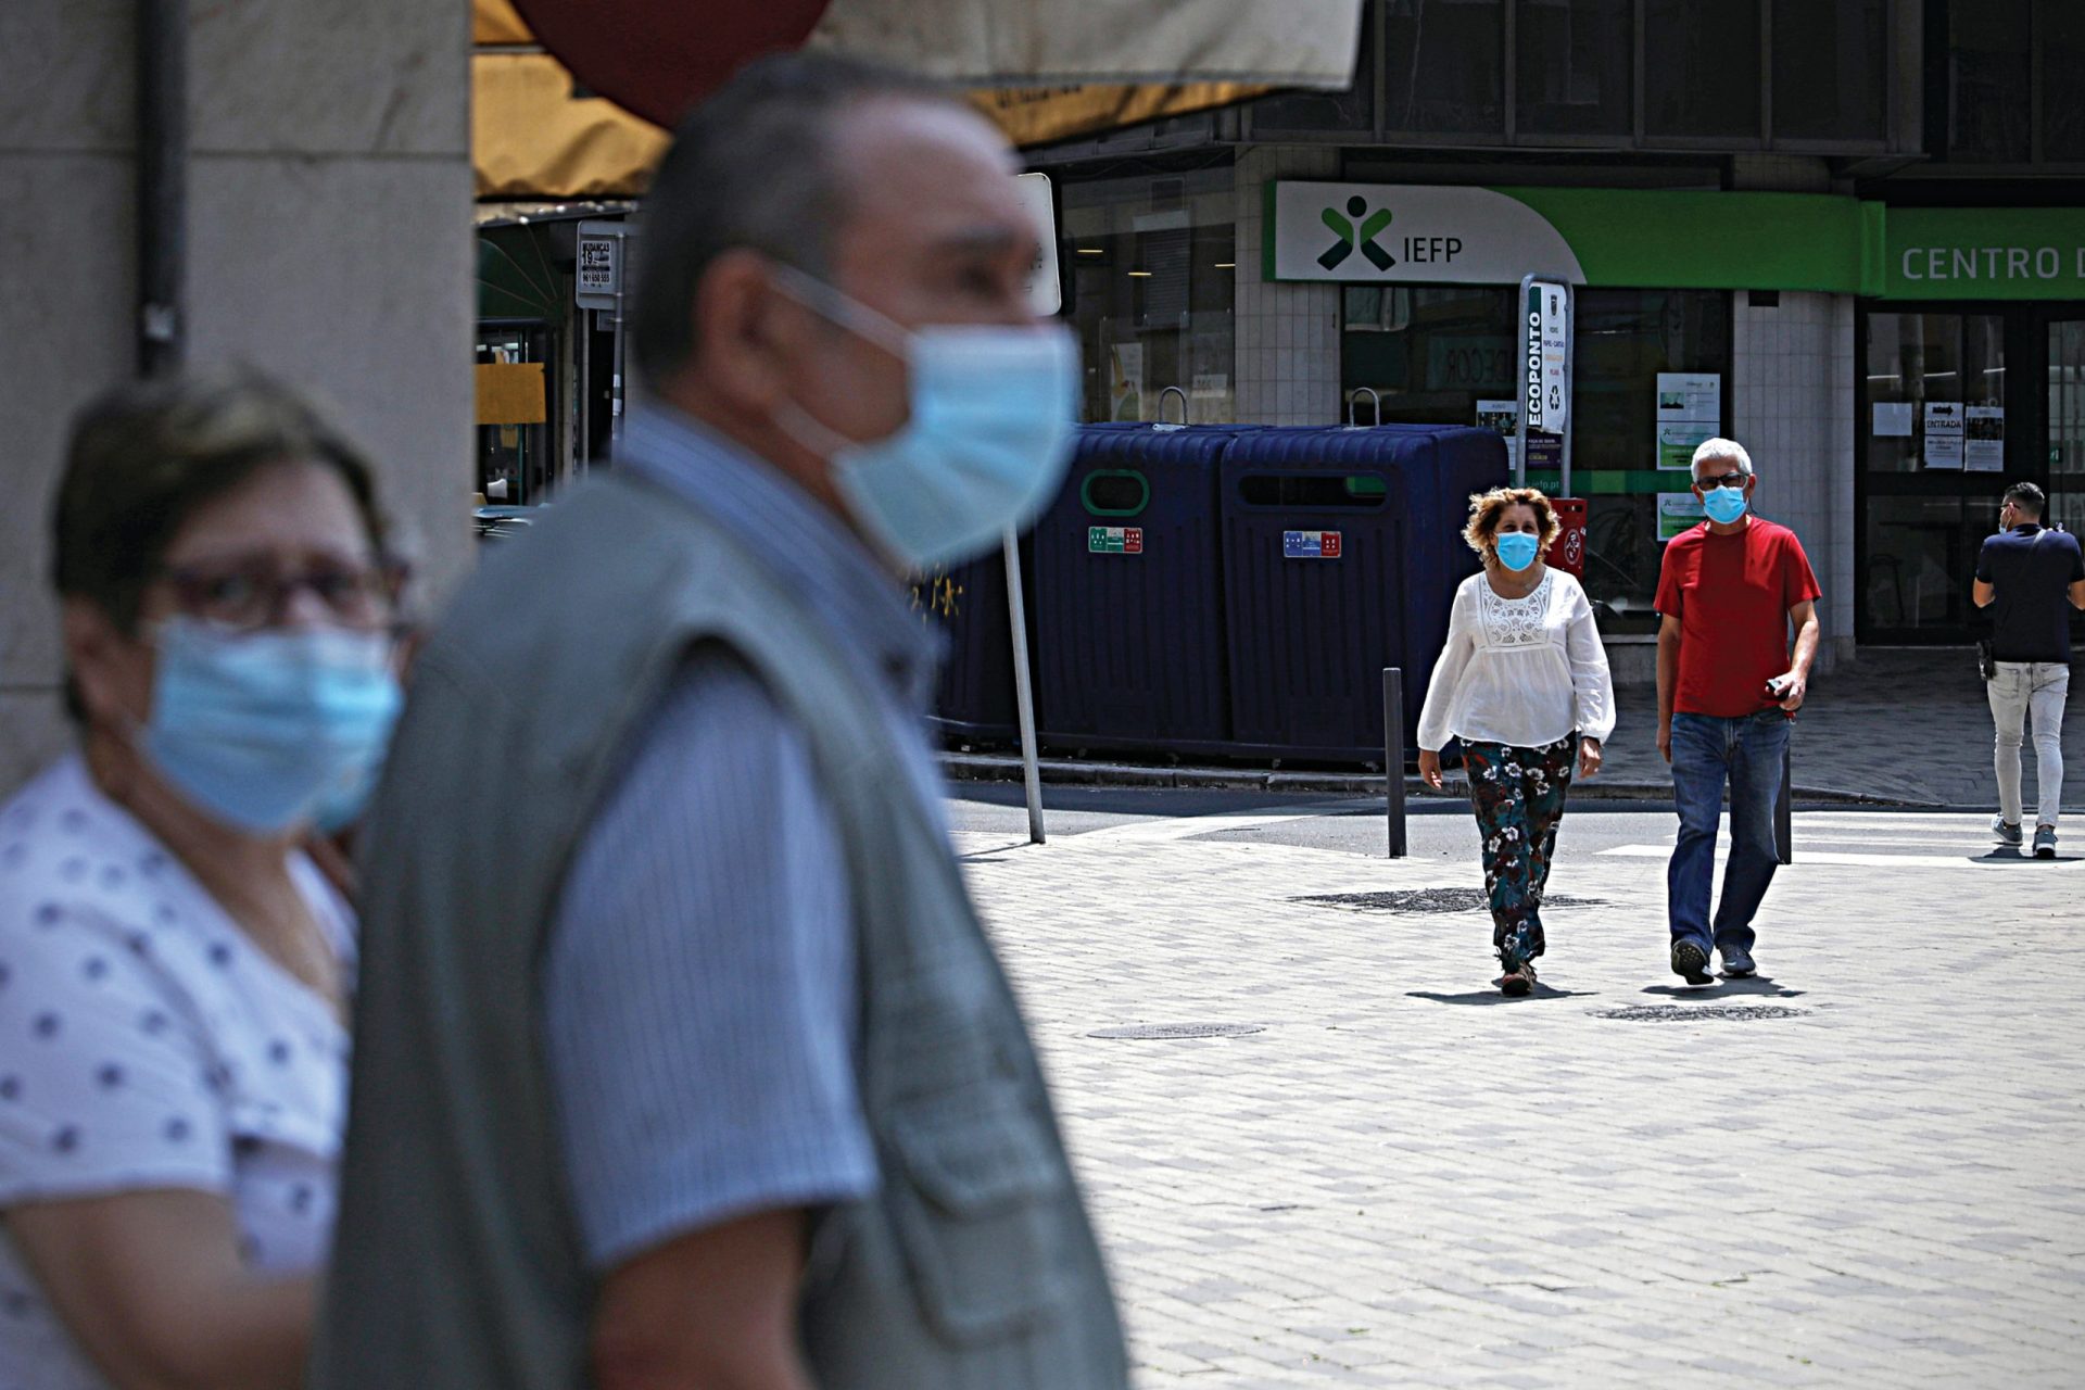
<instances>
[{"instance_id":1,"label":"shaded grey sidewalk across the street behind man in red","mask_svg":"<svg viewBox=\"0 0 2085 1390\"><path fill-rule=\"evenodd\" d=\"M2085 681L2075 684L2064 711L2064 809L2085 811ZM1618 704L1603 775L1670 788L1672 771L1658 754L1658 690L1624 688ZM1797 790L1997 811L1991 706L1968 648L1862 648L1854 665L1810 688L1793 748ZM2033 809L2033 744L2022 767Z\"/></svg>"}]
</instances>

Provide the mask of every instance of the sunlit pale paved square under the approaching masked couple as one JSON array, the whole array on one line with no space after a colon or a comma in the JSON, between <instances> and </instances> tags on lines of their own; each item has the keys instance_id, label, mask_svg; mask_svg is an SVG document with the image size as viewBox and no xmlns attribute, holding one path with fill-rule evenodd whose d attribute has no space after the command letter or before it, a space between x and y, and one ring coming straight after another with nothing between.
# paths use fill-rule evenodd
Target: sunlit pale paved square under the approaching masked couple
<instances>
[{"instance_id":1,"label":"sunlit pale paved square under the approaching masked couple","mask_svg":"<svg viewBox=\"0 0 2085 1390\"><path fill-rule=\"evenodd\" d=\"M2085 865L1806 813L1770 979L1687 990L1660 846L1593 852L1593 821L1526 1000L1482 913L1309 900L1474 863L961 836L1140 1384L2079 1384ZM1090 1036L1136 1023L1261 1032Z\"/></svg>"}]
</instances>

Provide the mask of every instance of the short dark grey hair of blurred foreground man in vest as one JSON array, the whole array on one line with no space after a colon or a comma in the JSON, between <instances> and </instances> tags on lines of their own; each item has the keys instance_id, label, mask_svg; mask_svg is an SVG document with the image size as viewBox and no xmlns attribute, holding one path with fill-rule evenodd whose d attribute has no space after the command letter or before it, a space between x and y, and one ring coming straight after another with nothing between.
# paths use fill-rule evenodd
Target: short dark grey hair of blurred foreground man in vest
<instances>
[{"instance_id":1,"label":"short dark grey hair of blurred foreground man in vest","mask_svg":"<svg viewBox=\"0 0 2085 1390\"><path fill-rule=\"evenodd\" d=\"M955 102L905 73L815 52L749 63L673 135L644 198L630 336L653 386L694 356L694 296L709 265L749 248L826 277L847 217L838 121L876 98Z\"/></svg>"}]
</instances>

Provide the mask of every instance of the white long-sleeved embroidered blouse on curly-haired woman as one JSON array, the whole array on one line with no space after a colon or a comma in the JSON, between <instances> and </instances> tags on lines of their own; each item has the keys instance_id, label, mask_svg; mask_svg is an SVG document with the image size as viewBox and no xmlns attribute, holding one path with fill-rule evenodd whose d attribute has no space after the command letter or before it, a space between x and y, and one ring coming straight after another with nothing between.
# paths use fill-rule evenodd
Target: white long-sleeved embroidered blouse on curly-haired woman
<instances>
[{"instance_id":1,"label":"white long-sleeved embroidered blouse on curly-haired woman","mask_svg":"<svg viewBox=\"0 0 2085 1390\"><path fill-rule=\"evenodd\" d=\"M1420 748L1439 752L1451 736L1539 748L1572 731L1614 734L1614 677L1585 588L1557 569L1526 598L1499 596L1482 573L1464 579L1420 711Z\"/></svg>"}]
</instances>

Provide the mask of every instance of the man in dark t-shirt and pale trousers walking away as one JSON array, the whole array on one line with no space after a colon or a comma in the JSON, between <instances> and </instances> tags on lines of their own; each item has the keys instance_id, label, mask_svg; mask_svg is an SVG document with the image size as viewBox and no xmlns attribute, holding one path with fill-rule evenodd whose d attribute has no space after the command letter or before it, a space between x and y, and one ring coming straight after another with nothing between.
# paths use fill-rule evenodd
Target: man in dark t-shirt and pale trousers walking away
<instances>
[{"instance_id":1,"label":"man in dark t-shirt and pale trousers walking away","mask_svg":"<svg viewBox=\"0 0 2085 1390\"><path fill-rule=\"evenodd\" d=\"M1977 554L1977 606L1991 609L1991 719L1997 723L1997 815L1991 831L2020 842L2020 731L2035 721L2035 859L2056 859L2064 800L2064 700L2070 694L2070 609L2085 609L2085 552L2077 536L2041 525L2047 498L2033 483L2006 488L1997 536Z\"/></svg>"}]
</instances>

